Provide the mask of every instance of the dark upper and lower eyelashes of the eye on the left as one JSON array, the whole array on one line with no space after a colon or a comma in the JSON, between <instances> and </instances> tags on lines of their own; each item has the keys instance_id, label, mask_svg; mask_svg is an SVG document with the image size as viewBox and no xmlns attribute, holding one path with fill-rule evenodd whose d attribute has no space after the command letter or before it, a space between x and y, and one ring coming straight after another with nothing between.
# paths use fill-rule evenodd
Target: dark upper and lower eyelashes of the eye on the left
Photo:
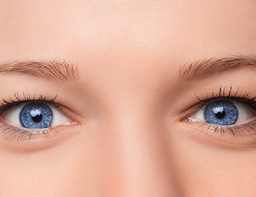
<instances>
[{"instance_id":1,"label":"dark upper and lower eyelashes of the eye on the left","mask_svg":"<svg viewBox=\"0 0 256 197\"><path fill-rule=\"evenodd\" d=\"M30 94L22 93L22 98L18 93L14 93L13 97L9 96L9 99L6 100L2 98L2 102L0 103L0 115L2 115L4 112L7 112L7 110L20 105L21 103L30 103L30 102L37 102L37 103L48 103L53 105L55 108L58 108L60 111L62 110L61 107L62 102L60 100L57 101L58 94L54 96L54 98L49 99L44 94L40 94L39 97L36 97L34 94L33 96ZM2 131L2 134L7 136L7 139L18 141L24 141L24 140L31 140L31 138L35 135L43 134L46 137L49 135L49 131L52 128L46 128L46 129L21 129L16 126L12 126L7 124L4 121L0 121L1 125L0 128Z\"/></svg>"}]
</instances>

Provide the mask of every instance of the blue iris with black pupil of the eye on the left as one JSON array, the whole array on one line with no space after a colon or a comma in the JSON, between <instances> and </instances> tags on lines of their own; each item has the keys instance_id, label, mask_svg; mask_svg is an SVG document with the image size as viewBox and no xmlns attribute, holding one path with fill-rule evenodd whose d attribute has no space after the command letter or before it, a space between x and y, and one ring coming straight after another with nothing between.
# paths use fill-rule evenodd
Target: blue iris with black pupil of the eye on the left
<instances>
[{"instance_id":1,"label":"blue iris with black pupil of the eye on the left","mask_svg":"<svg viewBox=\"0 0 256 197\"><path fill-rule=\"evenodd\" d=\"M53 112L44 103L28 103L20 112L21 126L30 129L41 129L51 126Z\"/></svg>"}]
</instances>

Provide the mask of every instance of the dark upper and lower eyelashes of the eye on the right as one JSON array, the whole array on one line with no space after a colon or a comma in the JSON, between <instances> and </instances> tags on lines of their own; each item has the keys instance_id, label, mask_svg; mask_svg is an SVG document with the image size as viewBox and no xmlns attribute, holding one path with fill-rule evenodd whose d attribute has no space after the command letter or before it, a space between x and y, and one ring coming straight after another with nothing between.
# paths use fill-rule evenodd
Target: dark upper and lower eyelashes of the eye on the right
<instances>
[{"instance_id":1,"label":"dark upper and lower eyelashes of the eye on the right","mask_svg":"<svg viewBox=\"0 0 256 197\"><path fill-rule=\"evenodd\" d=\"M249 98L249 93L248 91L245 91L242 96L237 96L240 92L240 88L235 90L235 94L233 94L233 88L232 85L230 86L230 89L226 93L226 88L220 87L218 93L212 92L211 97L209 97L207 94L206 99L202 100L201 98L198 97L198 95L195 93L196 98L199 100L199 109L203 109L207 106L208 103L211 103L214 100L218 99L227 99L227 100L232 100L236 101L238 103L243 103L247 106L249 106L252 109L256 109L256 97ZM209 129L213 129L213 133L219 132L221 134L225 134L227 131L230 131L230 133L235 137L236 135L240 135L243 137L244 131L249 132L249 130L253 130L256 133L256 119L254 121L246 122L241 125L235 125L235 126L217 126L217 125L212 125L208 124L207 122L203 122L202 126L207 126L207 133Z\"/></svg>"}]
</instances>

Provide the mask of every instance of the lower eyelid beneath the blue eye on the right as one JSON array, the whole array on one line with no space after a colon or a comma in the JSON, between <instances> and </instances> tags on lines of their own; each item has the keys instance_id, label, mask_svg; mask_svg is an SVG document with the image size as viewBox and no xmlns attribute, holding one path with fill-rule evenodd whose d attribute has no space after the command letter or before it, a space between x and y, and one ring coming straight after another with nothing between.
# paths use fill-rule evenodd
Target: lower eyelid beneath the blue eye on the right
<instances>
[{"instance_id":1,"label":"lower eyelid beneath the blue eye on the right","mask_svg":"<svg viewBox=\"0 0 256 197\"><path fill-rule=\"evenodd\" d=\"M253 124L256 125L256 122ZM221 149L256 149L256 132L249 125L233 126L235 135L232 135L230 126L214 126L205 122L184 121L179 127L180 135L199 144Z\"/></svg>"}]
</instances>

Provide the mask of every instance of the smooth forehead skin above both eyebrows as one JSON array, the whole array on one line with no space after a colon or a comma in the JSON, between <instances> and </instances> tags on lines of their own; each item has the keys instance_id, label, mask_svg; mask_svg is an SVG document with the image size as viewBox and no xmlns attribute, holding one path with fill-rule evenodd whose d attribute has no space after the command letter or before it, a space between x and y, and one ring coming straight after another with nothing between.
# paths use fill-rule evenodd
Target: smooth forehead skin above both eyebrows
<instances>
[{"instance_id":1,"label":"smooth forehead skin above both eyebrows","mask_svg":"<svg viewBox=\"0 0 256 197\"><path fill-rule=\"evenodd\" d=\"M247 0L3 0L0 57L138 63L252 53L255 8Z\"/></svg>"}]
</instances>

